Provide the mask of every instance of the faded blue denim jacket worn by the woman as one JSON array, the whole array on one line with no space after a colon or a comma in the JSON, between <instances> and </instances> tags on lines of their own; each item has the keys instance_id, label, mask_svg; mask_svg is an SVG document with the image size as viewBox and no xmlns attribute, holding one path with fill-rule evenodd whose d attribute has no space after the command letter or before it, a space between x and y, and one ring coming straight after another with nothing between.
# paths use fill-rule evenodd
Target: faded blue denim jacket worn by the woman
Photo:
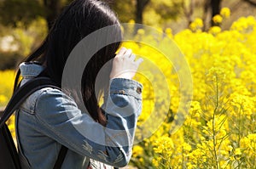
<instances>
[{"instance_id":1,"label":"faded blue denim jacket worn by the woman","mask_svg":"<svg viewBox=\"0 0 256 169\"><path fill-rule=\"evenodd\" d=\"M21 64L21 85L42 70L41 65ZM73 99L59 89L44 87L32 93L15 114L23 166L26 163L31 168L53 168L61 145L68 148L62 169L86 168L87 157L110 166L127 165L137 117L142 110L141 91L142 85L136 81L110 80L107 103L104 103L107 127L81 112Z\"/></svg>"}]
</instances>

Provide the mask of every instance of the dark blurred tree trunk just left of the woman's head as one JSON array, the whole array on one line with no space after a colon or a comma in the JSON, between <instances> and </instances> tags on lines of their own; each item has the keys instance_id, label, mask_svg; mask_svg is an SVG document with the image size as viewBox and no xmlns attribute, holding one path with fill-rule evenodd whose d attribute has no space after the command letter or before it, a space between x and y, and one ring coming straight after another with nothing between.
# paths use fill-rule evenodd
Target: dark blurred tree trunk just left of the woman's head
<instances>
[{"instance_id":1,"label":"dark blurred tree trunk just left of the woman's head","mask_svg":"<svg viewBox=\"0 0 256 169\"><path fill-rule=\"evenodd\" d=\"M46 21L50 30L55 19L61 13L61 0L44 0L44 7L47 11Z\"/></svg>"}]
</instances>

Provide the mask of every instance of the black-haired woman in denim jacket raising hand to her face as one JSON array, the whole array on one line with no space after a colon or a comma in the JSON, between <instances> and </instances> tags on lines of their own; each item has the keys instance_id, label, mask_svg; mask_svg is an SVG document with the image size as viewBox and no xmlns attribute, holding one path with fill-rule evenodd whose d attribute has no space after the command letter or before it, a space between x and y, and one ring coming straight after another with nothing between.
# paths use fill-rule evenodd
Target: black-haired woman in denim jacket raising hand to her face
<instances>
[{"instance_id":1,"label":"black-haired woman in denim jacket raising hand to her face","mask_svg":"<svg viewBox=\"0 0 256 169\"><path fill-rule=\"evenodd\" d=\"M109 32L113 38L121 39L119 20L106 3L73 1L55 20L43 44L20 64L15 89L38 76L48 76L61 87L67 57L76 44L91 32L108 25L113 25L113 32ZM45 87L21 104L16 112L16 135L24 168L53 168L62 145L68 150L61 168L87 168L89 158L110 166L127 165L142 106L142 86L131 78L143 60L135 61L135 55L126 48L121 48L115 55L119 45L114 42L102 48L86 65L81 82L83 100L77 99L75 92L70 94ZM105 108L102 110L96 99L96 76L111 59L112 70L105 71L109 86L108 83L100 85L102 91L108 91L104 93ZM88 112L79 109L81 103ZM127 112L120 109L123 105ZM84 137L78 128L102 139L101 142Z\"/></svg>"}]
</instances>

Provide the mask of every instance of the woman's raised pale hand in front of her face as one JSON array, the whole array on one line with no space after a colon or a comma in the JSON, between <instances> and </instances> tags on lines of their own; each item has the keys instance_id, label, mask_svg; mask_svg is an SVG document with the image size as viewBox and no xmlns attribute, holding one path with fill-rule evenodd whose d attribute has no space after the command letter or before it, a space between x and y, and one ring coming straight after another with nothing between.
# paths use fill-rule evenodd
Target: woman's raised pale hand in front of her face
<instances>
[{"instance_id":1,"label":"woman's raised pale hand in front of her face","mask_svg":"<svg viewBox=\"0 0 256 169\"><path fill-rule=\"evenodd\" d=\"M113 67L110 73L110 79L125 78L132 79L137 72L138 66L143 62L143 59L137 59L136 55L132 54L131 49L121 48L119 53L113 59Z\"/></svg>"}]
</instances>

